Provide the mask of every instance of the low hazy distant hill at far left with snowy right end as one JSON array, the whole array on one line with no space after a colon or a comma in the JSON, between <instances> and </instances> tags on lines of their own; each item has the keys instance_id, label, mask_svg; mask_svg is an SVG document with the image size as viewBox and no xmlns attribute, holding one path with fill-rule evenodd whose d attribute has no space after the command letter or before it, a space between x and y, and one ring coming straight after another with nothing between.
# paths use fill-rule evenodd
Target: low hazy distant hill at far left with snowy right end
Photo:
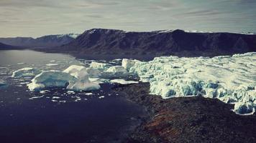
<instances>
[{"instance_id":1,"label":"low hazy distant hill at far left with snowy right end","mask_svg":"<svg viewBox=\"0 0 256 143\"><path fill-rule=\"evenodd\" d=\"M75 39L76 36L78 36L78 34L47 35L37 39L33 39L32 37L0 38L0 42L22 47L53 47L68 44Z\"/></svg>"}]
</instances>

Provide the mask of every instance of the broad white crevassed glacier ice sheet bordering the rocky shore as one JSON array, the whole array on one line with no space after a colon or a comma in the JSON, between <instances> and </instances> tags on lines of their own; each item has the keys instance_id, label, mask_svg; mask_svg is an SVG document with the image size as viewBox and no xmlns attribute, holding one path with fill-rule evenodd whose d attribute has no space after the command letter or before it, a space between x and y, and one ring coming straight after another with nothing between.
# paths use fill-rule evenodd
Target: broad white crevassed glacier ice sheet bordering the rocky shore
<instances>
[{"instance_id":1,"label":"broad white crevassed glacier ice sheet bordering the rocky shore","mask_svg":"<svg viewBox=\"0 0 256 143\"><path fill-rule=\"evenodd\" d=\"M163 99L203 95L234 104L237 114L256 107L256 52L233 56L161 56L152 61L123 59L122 66L150 82L150 94Z\"/></svg>"}]
</instances>

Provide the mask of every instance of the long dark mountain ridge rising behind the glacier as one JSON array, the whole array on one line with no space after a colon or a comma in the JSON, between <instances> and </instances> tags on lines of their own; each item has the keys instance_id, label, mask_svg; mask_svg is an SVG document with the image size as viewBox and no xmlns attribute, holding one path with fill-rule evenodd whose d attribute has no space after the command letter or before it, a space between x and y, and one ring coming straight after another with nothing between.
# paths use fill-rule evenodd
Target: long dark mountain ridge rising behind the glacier
<instances>
[{"instance_id":1,"label":"long dark mountain ridge rising behind the glacier","mask_svg":"<svg viewBox=\"0 0 256 143\"><path fill-rule=\"evenodd\" d=\"M52 49L79 54L217 56L256 51L255 34L91 29Z\"/></svg>"}]
</instances>

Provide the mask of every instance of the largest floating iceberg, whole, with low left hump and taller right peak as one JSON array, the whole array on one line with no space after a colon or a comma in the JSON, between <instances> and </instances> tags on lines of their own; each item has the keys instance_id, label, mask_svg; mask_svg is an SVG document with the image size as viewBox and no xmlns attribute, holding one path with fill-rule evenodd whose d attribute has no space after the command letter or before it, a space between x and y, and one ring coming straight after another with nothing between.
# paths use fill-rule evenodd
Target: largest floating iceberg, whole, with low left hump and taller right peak
<instances>
[{"instance_id":1,"label":"largest floating iceberg, whole, with low left hump and taller right peak","mask_svg":"<svg viewBox=\"0 0 256 143\"><path fill-rule=\"evenodd\" d=\"M42 71L32 83L27 84L30 91L39 91L47 87L66 87L73 91L88 91L99 89L98 83L89 80L89 74L84 66L72 65L64 71Z\"/></svg>"}]
</instances>

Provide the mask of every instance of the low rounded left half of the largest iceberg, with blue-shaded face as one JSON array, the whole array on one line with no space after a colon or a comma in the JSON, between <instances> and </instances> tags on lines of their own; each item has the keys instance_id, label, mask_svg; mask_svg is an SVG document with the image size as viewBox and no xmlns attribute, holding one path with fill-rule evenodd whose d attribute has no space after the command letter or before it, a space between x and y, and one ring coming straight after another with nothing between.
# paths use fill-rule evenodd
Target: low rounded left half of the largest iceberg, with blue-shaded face
<instances>
[{"instance_id":1,"label":"low rounded left half of the largest iceberg, with blue-shaded face","mask_svg":"<svg viewBox=\"0 0 256 143\"><path fill-rule=\"evenodd\" d=\"M27 84L27 87L30 91L37 91L47 87L66 87L75 82L76 77L63 71L43 71L32 79L32 83Z\"/></svg>"}]
</instances>

